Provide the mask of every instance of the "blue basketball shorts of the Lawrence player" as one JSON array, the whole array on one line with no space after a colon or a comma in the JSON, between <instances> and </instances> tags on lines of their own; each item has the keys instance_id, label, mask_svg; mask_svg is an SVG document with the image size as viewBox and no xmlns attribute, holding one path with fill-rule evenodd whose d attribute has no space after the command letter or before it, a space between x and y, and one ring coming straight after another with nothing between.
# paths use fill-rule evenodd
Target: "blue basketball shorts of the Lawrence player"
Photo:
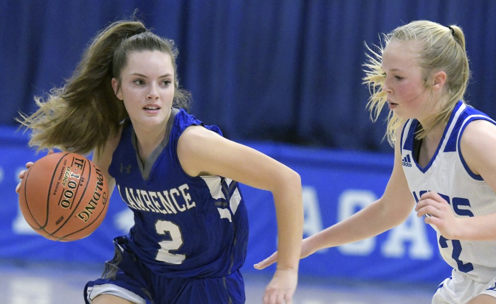
<instances>
[{"instance_id":1,"label":"blue basketball shorts of the Lawrence player","mask_svg":"<svg viewBox=\"0 0 496 304\"><path fill-rule=\"evenodd\" d=\"M238 270L221 278L166 278L146 268L125 249L124 237L114 240L115 255L105 263L102 278L84 288L85 303L102 294L138 304L244 304L245 285Z\"/></svg>"}]
</instances>

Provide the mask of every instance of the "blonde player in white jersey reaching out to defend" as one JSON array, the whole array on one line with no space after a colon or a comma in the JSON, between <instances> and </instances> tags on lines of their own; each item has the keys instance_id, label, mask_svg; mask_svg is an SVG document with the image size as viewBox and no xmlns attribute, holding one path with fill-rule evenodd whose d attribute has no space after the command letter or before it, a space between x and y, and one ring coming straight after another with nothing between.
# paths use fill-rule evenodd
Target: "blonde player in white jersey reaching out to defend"
<instances>
[{"instance_id":1,"label":"blonde player in white jersey reaching out to defend","mask_svg":"<svg viewBox=\"0 0 496 304\"><path fill-rule=\"evenodd\" d=\"M383 42L379 52L369 49L364 80L372 117L390 110L391 178L377 201L305 239L301 257L376 236L415 208L453 267L432 303L496 303L496 122L464 101L470 73L462 29L414 21Z\"/></svg>"}]
</instances>

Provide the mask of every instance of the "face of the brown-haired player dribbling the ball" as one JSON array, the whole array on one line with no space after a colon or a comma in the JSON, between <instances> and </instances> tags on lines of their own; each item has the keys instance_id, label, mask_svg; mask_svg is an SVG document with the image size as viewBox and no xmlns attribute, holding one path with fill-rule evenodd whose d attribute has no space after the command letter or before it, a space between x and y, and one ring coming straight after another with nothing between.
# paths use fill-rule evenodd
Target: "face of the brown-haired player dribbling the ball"
<instances>
[{"instance_id":1,"label":"face of the brown-haired player dribbling the ball","mask_svg":"<svg viewBox=\"0 0 496 304\"><path fill-rule=\"evenodd\" d=\"M116 91L116 79L112 79L112 85ZM165 126L174 99L171 56L160 51L127 54L116 96L123 100L134 128Z\"/></svg>"}]
</instances>

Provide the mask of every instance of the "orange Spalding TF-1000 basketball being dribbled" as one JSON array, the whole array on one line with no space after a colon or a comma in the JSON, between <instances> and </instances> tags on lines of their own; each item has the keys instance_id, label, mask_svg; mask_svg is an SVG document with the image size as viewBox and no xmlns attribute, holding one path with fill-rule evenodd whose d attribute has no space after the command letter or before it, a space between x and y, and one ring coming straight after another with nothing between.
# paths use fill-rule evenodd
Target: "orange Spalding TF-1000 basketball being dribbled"
<instances>
[{"instance_id":1,"label":"orange Spalding TF-1000 basketball being dribbled","mask_svg":"<svg viewBox=\"0 0 496 304\"><path fill-rule=\"evenodd\" d=\"M19 188L19 206L37 233L54 241L89 236L107 214L108 185L86 157L59 152L36 161Z\"/></svg>"}]
</instances>

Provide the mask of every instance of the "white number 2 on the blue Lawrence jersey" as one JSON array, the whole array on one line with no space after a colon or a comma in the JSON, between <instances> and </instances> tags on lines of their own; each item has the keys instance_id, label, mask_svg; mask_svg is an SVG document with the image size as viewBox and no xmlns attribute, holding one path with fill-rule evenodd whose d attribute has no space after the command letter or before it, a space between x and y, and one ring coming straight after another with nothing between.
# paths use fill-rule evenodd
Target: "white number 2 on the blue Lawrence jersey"
<instances>
[{"instance_id":1,"label":"white number 2 on the blue Lawrence jersey","mask_svg":"<svg viewBox=\"0 0 496 304\"><path fill-rule=\"evenodd\" d=\"M183 237L179 226L169 221L158 221L155 223L155 229L159 235L170 235L170 240L159 242L160 249L158 249L157 261L166 262L169 264L179 265L186 259L184 254L174 254L170 250L177 250L183 245Z\"/></svg>"}]
</instances>

